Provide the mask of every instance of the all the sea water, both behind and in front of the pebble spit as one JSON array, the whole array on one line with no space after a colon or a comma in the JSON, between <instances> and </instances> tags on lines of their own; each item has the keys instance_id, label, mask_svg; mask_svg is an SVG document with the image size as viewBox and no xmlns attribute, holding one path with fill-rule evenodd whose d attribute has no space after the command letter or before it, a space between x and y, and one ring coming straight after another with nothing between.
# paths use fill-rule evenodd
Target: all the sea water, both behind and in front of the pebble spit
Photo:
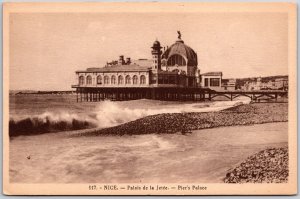
<instances>
[{"instance_id":1,"label":"all the sea water, both behind and in front of the pebble spit","mask_svg":"<svg viewBox=\"0 0 300 199\"><path fill-rule=\"evenodd\" d=\"M77 103L75 95L11 95L9 102L10 127L22 131L9 144L13 183L221 183L248 156L288 139L286 122L187 135L70 136L154 114L220 111L245 98Z\"/></svg>"}]
</instances>

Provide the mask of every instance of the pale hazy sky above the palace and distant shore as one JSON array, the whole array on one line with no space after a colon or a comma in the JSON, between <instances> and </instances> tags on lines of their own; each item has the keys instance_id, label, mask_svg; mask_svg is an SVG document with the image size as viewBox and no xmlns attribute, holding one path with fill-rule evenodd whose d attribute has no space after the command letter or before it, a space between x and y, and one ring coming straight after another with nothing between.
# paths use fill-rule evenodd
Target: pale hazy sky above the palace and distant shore
<instances>
[{"instance_id":1,"label":"pale hazy sky above the palace and distant shore","mask_svg":"<svg viewBox=\"0 0 300 199\"><path fill-rule=\"evenodd\" d=\"M70 90L75 71L119 55L151 58L157 38L182 33L201 73L224 78L286 75L285 13L14 13L10 15L10 89Z\"/></svg>"}]
</instances>

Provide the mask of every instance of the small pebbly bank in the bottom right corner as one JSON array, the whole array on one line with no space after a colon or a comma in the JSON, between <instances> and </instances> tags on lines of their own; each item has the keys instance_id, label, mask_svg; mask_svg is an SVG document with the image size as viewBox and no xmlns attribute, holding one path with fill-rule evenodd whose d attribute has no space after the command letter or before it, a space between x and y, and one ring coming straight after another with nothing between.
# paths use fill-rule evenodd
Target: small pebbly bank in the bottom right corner
<instances>
[{"instance_id":1,"label":"small pebbly bank in the bottom right corner","mask_svg":"<svg viewBox=\"0 0 300 199\"><path fill-rule=\"evenodd\" d=\"M225 183L286 183L288 148L270 148L248 157L229 171Z\"/></svg>"}]
</instances>

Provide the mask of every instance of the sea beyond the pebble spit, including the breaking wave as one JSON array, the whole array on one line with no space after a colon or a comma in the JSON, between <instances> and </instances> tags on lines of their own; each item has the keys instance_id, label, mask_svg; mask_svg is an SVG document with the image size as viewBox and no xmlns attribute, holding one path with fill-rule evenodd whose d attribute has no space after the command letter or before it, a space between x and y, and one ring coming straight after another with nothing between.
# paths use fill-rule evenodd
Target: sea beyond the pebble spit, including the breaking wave
<instances>
[{"instance_id":1,"label":"sea beyond the pebble spit, including the breaking wave","mask_svg":"<svg viewBox=\"0 0 300 199\"><path fill-rule=\"evenodd\" d=\"M105 128L148 115L219 111L249 99L214 102L157 100L76 102L75 95L10 96L10 132L45 133L85 128Z\"/></svg>"}]
</instances>

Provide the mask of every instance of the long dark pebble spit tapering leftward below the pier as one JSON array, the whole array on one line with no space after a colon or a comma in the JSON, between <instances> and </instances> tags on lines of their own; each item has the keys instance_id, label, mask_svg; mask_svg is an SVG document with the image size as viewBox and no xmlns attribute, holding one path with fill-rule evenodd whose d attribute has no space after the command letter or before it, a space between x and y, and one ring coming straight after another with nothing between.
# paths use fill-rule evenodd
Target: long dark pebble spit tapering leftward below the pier
<instances>
[{"instance_id":1,"label":"long dark pebble spit tapering leftward below the pier","mask_svg":"<svg viewBox=\"0 0 300 199\"><path fill-rule=\"evenodd\" d=\"M287 121L287 103L253 103L231 107L219 112L151 115L118 126L88 130L76 135L138 135L178 132L185 134L198 129Z\"/></svg>"}]
</instances>

